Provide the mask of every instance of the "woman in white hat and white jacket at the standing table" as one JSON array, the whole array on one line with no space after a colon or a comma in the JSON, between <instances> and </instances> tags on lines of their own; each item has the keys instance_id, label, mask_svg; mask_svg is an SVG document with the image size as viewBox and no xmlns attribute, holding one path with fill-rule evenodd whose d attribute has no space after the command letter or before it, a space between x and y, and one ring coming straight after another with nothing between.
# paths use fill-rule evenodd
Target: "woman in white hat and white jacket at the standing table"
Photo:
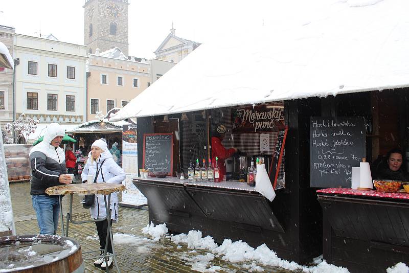
<instances>
[{"instance_id":1,"label":"woman in white hat and white jacket at the standing table","mask_svg":"<svg viewBox=\"0 0 409 273\"><path fill-rule=\"evenodd\" d=\"M125 172L115 163L115 161L113 161L112 154L107 149L106 142L103 139L96 140L91 148L88 160L81 174L82 183L85 183L87 180L87 175L93 175L95 179L97 172L98 176L96 183L122 183L126 177ZM88 182L93 183L94 181ZM111 194L110 209L112 210L110 220L110 225L112 226L112 221L118 220L118 195L116 192ZM104 196L102 194L95 195L94 205L91 207L90 213L91 218L94 219L102 219L106 216ZM99 221L95 222L95 224L97 225L98 237L101 245L101 256L103 256L105 254L102 249L105 249L108 222ZM112 242L109 239L106 255L111 253ZM94 265L106 269L106 266L110 267L112 265L112 257L101 257L94 262Z\"/></svg>"}]
</instances>

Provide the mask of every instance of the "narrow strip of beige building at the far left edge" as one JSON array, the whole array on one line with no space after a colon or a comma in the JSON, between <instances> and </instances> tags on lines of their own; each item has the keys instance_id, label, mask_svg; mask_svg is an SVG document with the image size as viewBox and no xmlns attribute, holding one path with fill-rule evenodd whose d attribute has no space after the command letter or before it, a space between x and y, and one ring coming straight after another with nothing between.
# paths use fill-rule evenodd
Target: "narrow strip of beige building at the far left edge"
<instances>
[{"instance_id":1,"label":"narrow strip of beige building at the far left edge","mask_svg":"<svg viewBox=\"0 0 409 273\"><path fill-rule=\"evenodd\" d=\"M0 42L3 42L13 56L13 39L15 29L0 26ZM13 70L0 67L0 122L2 128L5 123L13 121Z\"/></svg>"}]
</instances>

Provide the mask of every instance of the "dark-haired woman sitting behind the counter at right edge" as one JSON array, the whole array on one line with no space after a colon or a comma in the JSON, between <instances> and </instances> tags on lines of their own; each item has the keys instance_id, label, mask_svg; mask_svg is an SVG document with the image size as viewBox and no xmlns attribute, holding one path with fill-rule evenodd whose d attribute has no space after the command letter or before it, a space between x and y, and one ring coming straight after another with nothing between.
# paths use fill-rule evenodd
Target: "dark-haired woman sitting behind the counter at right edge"
<instances>
[{"instance_id":1,"label":"dark-haired woman sitting behind the counter at right edge","mask_svg":"<svg viewBox=\"0 0 409 273\"><path fill-rule=\"evenodd\" d=\"M387 166L379 171L378 178L385 180L409 181L409 174L402 168L403 152L392 149L387 154Z\"/></svg>"}]
</instances>

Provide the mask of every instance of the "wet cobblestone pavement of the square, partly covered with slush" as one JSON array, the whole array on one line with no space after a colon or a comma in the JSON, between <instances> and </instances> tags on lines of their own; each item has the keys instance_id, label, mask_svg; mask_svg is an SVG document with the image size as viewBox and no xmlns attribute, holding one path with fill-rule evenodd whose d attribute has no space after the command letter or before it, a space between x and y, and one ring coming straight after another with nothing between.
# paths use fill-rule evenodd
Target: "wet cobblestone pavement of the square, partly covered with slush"
<instances>
[{"instance_id":1,"label":"wet cobblestone pavement of the square, partly covered with slush","mask_svg":"<svg viewBox=\"0 0 409 273\"><path fill-rule=\"evenodd\" d=\"M18 235L37 234L39 229L32 207L30 196L30 183L11 184L10 192L13 204L16 233ZM80 196L74 195L73 218L77 220L88 220L89 211L82 208ZM121 200L121 194L119 194ZM63 209L69 207L69 196L63 198ZM65 215L65 212L64 212ZM64 219L65 222L65 219ZM112 224L113 234L129 234L140 238L149 238L142 234L141 229L148 224L148 211L120 207L119 221ZM94 223L71 224L69 235L81 244L82 252L99 249L99 240ZM60 224L57 234L61 235ZM146 241L143 244L119 244L115 243L117 262L121 272L198 272L192 269L192 261L189 257L194 255L206 255L207 251L195 249L196 253L189 253L185 244L181 248L172 243L170 238L161 238L158 242ZM84 260L90 258L89 254L84 254ZM85 260L86 272L103 272L94 267L94 259ZM219 272L247 272L241 265L246 263L231 263L215 257L211 265L220 266ZM284 269L262 266L264 272L284 273L290 272ZM110 272L116 272L115 267Z\"/></svg>"}]
</instances>

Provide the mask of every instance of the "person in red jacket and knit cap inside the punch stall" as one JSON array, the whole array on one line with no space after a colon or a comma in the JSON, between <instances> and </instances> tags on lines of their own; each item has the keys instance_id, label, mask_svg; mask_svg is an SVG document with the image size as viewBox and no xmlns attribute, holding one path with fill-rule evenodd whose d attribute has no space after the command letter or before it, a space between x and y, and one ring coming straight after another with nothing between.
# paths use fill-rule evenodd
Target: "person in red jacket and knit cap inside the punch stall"
<instances>
[{"instance_id":1,"label":"person in red jacket and knit cap inside the punch stall","mask_svg":"<svg viewBox=\"0 0 409 273\"><path fill-rule=\"evenodd\" d=\"M218 158L218 165L220 169L220 177L226 175L226 165L224 164L224 160L232 156L235 152L237 152L236 148L225 149L223 144L221 143L224 139L224 135L226 134L226 127L224 125L219 125L213 131L212 136L212 165L213 168L216 164L216 156Z\"/></svg>"}]
</instances>

